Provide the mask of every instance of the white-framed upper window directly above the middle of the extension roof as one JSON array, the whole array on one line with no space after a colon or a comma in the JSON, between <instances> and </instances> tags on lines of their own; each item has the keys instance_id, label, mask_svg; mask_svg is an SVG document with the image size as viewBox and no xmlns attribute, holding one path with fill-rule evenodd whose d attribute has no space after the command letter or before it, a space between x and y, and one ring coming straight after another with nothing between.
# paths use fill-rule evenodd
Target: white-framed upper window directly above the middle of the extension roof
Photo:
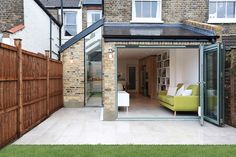
<instances>
[{"instance_id":1,"label":"white-framed upper window directly above the middle of the extension roof","mask_svg":"<svg viewBox=\"0 0 236 157\"><path fill-rule=\"evenodd\" d=\"M133 22L161 22L161 0L133 0Z\"/></svg>"}]
</instances>

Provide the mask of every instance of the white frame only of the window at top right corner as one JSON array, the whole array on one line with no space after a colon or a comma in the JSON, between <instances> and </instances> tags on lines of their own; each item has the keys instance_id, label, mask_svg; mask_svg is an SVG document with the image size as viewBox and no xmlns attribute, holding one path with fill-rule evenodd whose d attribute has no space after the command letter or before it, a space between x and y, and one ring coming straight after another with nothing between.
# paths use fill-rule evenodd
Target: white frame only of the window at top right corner
<instances>
[{"instance_id":1,"label":"white frame only of the window at top right corner","mask_svg":"<svg viewBox=\"0 0 236 157\"><path fill-rule=\"evenodd\" d=\"M236 16L235 16L235 18L210 18L210 2L226 2L226 1L236 2L236 0L209 0L208 23L236 23ZM226 5L226 7L227 7L227 5ZM227 10L227 8L226 8L226 10ZM235 14L236 14L236 7L235 7Z\"/></svg>"}]
</instances>

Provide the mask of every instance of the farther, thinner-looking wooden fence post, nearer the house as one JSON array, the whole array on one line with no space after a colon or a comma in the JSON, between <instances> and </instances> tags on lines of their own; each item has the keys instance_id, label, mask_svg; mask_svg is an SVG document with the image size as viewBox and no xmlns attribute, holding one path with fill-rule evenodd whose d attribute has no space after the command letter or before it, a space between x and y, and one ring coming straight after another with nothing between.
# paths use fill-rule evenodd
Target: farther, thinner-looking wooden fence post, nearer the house
<instances>
[{"instance_id":1,"label":"farther, thinner-looking wooden fence post, nearer the house","mask_svg":"<svg viewBox=\"0 0 236 157\"><path fill-rule=\"evenodd\" d=\"M49 83L50 83L50 59L49 59L49 56L50 56L50 51L48 50L45 50L45 54L46 54L46 57L47 57L47 116L50 115L50 108L49 108L49 99L50 99L50 88L49 88Z\"/></svg>"}]
</instances>

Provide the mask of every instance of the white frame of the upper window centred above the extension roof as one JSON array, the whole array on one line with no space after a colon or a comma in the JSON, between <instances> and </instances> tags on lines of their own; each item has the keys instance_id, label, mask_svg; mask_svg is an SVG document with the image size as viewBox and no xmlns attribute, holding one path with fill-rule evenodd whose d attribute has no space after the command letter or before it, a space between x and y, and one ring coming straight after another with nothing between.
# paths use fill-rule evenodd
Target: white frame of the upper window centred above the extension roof
<instances>
[{"instance_id":1,"label":"white frame of the upper window centred above the extension roof","mask_svg":"<svg viewBox=\"0 0 236 157\"><path fill-rule=\"evenodd\" d=\"M156 18L150 18L150 17L139 18L139 17L137 17L136 16L135 1L136 0L132 0L132 21L130 21L131 23L163 23L163 21L162 21L162 0L143 0L143 1L159 2L160 9L158 10L158 8L157 8L157 15L160 15L160 16L158 16Z\"/></svg>"}]
</instances>

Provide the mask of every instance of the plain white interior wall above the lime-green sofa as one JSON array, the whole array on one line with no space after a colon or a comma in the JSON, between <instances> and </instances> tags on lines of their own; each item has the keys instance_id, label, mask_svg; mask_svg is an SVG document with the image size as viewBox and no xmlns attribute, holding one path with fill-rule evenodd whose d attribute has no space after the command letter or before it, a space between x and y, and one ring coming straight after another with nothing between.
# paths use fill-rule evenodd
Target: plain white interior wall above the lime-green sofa
<instances>
[{"instance_id":1,"label":"plain white interior wall above the lime-green sofa","mask_svg":"<svg viewBox=\"0 0 236 157\"><path fill-rule=\"evenodd\" d=\"M170 50L170 86L184 83L185 86L199 82L198 49Z\"/></svg>"}]
</instances>

